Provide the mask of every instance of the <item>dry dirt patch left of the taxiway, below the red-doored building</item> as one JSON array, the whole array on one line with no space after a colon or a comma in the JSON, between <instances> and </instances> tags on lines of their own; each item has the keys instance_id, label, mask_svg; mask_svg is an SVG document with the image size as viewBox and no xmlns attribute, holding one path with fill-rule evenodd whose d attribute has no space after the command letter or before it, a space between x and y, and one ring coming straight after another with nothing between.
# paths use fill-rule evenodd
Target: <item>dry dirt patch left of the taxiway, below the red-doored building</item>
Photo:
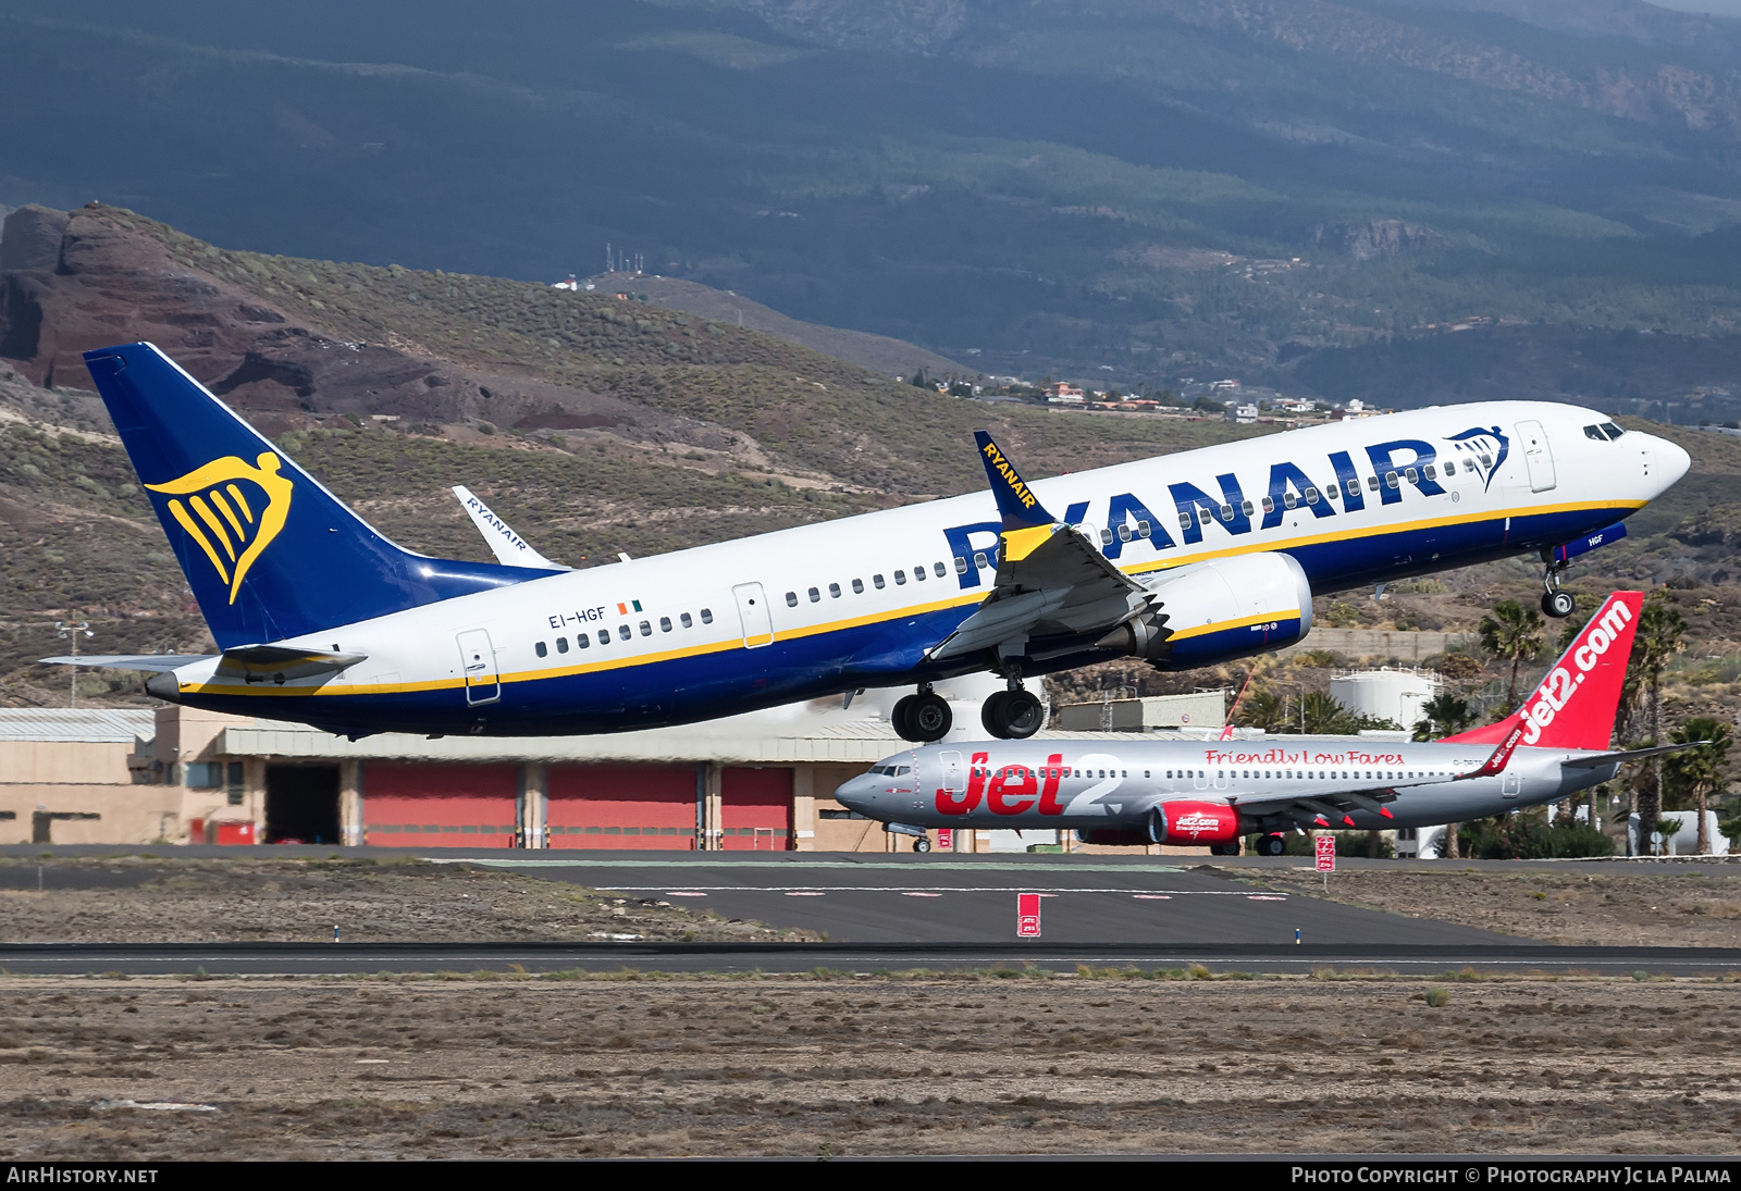
<instances>
[{"instance_id":1,"label":"dry dirt patch left of the taxiway, below the red-doored building","mask_svg":"<svg viewBox=\"0 0 1741 1191\"><path fill-rule=\"evenodd\" d=\"M470 865L374 860L0 860L0 942L815 940L655 898Z\"/></svg>"}]
</instances>

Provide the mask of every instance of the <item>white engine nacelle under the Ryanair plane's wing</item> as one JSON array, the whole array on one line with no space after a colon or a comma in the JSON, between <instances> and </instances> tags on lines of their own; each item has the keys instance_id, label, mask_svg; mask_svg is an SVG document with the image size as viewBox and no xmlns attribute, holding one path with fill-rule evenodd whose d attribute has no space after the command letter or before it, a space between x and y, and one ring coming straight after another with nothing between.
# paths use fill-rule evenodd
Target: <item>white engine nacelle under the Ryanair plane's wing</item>
<instances>
[{"instance_id":1,"label":"white engine nacelle under the Ryanair plane's wing","mask_svg":"<svg viewBox=\"0 0 1741 1191\"><path fill-rule=\"evenodd\" d=\"M1241 554L1161 571L1154 606L1100 646L1170 670L1280 649L1311 632L1311 583L1288 554Z\"/></svg>"}]
</instances>

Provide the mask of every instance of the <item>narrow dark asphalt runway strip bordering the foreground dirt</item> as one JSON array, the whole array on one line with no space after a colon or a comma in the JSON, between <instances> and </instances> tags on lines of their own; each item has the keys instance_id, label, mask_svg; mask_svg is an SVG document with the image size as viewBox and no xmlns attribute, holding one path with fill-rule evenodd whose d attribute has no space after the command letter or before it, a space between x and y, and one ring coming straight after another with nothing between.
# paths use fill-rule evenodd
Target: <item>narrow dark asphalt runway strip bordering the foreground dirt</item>
<instances>
[{"instance_id":1,"label":"narrow dark asphalt runway strip bordering the foreground dirt","mask_svg":"<svg viewBox=\"0 0 1741 1191\"><path fill-rule=\"evenodd\" d=\"M1006 944L5 944L12 975L376 975L406 972L829 972L1036 966L1309 973L1381 972L1455 979L1476 973L1689 975L1741 973L1741 949L1450 945L1093 945Z\"/></svg>"}]
</instances>

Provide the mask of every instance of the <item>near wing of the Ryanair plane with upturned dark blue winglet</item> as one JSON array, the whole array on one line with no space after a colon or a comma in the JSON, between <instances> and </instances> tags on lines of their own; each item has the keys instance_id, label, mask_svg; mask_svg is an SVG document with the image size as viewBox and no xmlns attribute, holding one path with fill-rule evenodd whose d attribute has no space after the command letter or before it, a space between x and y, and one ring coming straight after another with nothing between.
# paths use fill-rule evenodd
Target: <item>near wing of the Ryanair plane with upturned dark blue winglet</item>
<instances>
[{"instance_id":1,"label":"near wing of the Ryanair plane with upturned dark blue winglet","mask_svg":"<svg viewBox=\"0 0 1741 1191\"><path fill-rule=\"evenodd\" d=\"M1039 505L989 434L973 437L1003 514L998 578L991 596L931 648L928 660L998 648L1020 653L1031 637L1112 629L1149 602L1147 589Z\"/></svg>"}]
</instances>

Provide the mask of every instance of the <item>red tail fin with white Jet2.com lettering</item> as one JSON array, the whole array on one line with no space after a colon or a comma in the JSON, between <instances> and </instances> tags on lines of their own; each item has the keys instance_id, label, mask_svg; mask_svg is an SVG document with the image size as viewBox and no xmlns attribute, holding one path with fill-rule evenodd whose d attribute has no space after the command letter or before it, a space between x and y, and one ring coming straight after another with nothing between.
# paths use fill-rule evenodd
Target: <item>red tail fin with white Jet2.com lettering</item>
<instances>
[{"instance_id":1,"label":"red tail fin with white Jet2.com lettering","mask_svg":"<svg viewBox=\"0 0 1741 1191\"><path fill-rule=\"evenodd\" d=\"M1518 710L1497 724L1471 728L1445 740L1501 745L1482 766L1483 773L1506 768L1518 745L1607 749L1642 608L1644 592L1609 596Z\"/></svg>"}]
</instances>

